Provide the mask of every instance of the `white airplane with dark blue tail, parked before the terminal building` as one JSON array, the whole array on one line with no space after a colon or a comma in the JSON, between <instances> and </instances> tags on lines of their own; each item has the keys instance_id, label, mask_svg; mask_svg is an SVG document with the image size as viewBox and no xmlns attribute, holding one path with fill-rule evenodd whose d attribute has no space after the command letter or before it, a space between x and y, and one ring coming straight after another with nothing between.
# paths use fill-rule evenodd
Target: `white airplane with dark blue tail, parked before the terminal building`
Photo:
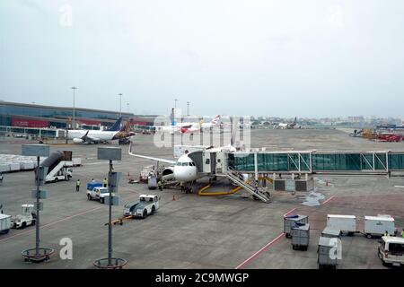
<instances>
[{"instance_id":1,"label":"white airplane with dark blue tail, parked before the terminal building","mask_svg":"<svg viewBox=\"0 0 404 287\"><path fill-rule=\"evenodd\" d=\"M122 117L119 117L115 124L105 131L83 129L67 130L67 139L73 140L73 143L102 143L135 135L135 133L127 130L128 126L125 130L120 130L121 121Z\"/></svg>"}]
</instances>

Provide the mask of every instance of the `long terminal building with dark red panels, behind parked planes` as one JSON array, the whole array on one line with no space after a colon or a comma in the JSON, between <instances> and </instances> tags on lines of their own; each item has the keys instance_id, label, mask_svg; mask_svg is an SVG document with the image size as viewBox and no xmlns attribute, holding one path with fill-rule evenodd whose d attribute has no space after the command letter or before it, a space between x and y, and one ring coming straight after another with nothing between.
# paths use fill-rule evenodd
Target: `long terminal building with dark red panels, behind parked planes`
<instances>
[{"instance_id":1,"label":"long terminal building with dark red panels, behind parked planes","mask_svg":"<svg viewBox=\"0 0 404 287\"><path fill-rule=\"evenodd\" d=\"M131 125L153 126L157 116L134 115L122 112L123 120ZM119 111L75 108L77 128L103 129L111 126L119 117ZM38 134L38 130L51 137L56 130L73 128L73 107L55 107L38 104L0 101L0 132L15 134ZM49 132L48 132L49 130Z\"/></svg>"}]
</instances>

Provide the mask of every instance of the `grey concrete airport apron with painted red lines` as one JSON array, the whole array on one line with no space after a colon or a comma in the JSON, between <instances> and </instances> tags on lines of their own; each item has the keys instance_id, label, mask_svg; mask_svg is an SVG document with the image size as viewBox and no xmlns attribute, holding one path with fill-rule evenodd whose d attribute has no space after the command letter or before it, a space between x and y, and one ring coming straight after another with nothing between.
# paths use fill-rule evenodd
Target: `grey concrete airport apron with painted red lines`
<instances>
[{"instance_id":1,"label":"grey concrete airport apron with painted red lines","mask_svg":"<svg viewBox=\"0 0 404 287\"><path fill-rule=\"evenodd\" d=\"M22 143L33 142L1 138L0 153L20 154ZM267 150L404 150L404 143L375 143L335 129L251 130L251 143ZM115 162L114 169L123 173L121 203L134 201L143 193L161 196L161 207L154 215L113 227L113 256L126 258L125 268L318 268L317 243L328 213L356 215L359 229L363 228L364 215L391 214L396 226L404 228L404 188L396 187L404 186L404 178L316 176L315 191L323 196L316 206L303 205L307 194L299 192L273 192L270 204L238 193L200 197L128 184L127 174L137 178L140 170L153 162L129 156L127 145L120 147L122 161ZM172 148L155 148L153 135L136 135L135 149L140 154L172 159ZM97 160L97 145L51 146L52 152L57 150L73 151L83 166L74 168L72 180L43 187L48 198L43 200L44 211L40 213L41 246L54 248L56 253L47 263L24 263L21 252L34 248L35 227L11 230L0 235L0 268L93 268L95 259L107 257L108 227L104 224L108 222L108 206L88 201L85 184L92 178L105 178L108 162ZM4 213L17 214L21 204L32 201L33 178L33 171L4 174L0 184ZM82 181L80 192L75 192L77 178ZM203 181L198 183L198 187L203 185ZM113 218L119 218L123 205L112 210ZM307 251L293 250L290 239L282 234L285 213L309 215L311 243ZM59 257L63 238L73 241L73 260ZM385 268L377 256L377 246L377 239L361 234L343 237L338 268Z\"/></svg>"}]
</instances>

